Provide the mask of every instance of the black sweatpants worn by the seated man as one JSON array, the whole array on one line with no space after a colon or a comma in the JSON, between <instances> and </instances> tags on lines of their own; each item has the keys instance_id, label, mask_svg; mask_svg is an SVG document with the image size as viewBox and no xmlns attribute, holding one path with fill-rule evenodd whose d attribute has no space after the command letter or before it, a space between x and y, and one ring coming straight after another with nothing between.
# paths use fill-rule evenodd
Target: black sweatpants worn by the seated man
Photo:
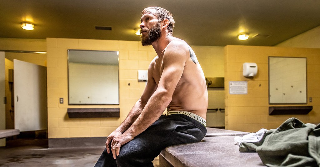
<instances>
[{"instance_id":1,"label":"black sweatpants worn by the seated man","mask_svg":"<svg viewBox=\"0 0 320 167\"><path fill-rule=\"evenodd\" d=\"M199 142L206 133L204 125L186 115L162 115L144 132L121 146L116 160L105 149L95 167L153 167L152 161L164 148Z\"/></svg>"}]
</instances>

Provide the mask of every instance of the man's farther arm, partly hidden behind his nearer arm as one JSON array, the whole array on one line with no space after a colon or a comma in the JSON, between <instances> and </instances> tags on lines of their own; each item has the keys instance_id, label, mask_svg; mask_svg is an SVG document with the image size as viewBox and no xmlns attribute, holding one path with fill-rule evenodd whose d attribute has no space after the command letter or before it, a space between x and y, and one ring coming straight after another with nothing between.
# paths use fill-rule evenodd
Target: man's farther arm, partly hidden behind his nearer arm
<instances>
[{"instance_id":1,"label":"man's farther arm, partly hidden behind his nearer arm","mask_svg":"<svg viewBox=\"0 0 320 167\"><path fill-rule=\"evenodd\" d=\"M121 123L121 125L116 128L115 131L113 131L108 137L106 141L106 148L107 152L110 153L109 144L111 142L111 145L113 145L113 139L122 133L124 133L131 125L132 123L138 118L138 116L141 114L143 108L147 104L150 96L155 92L156 90L156 82L152 78L152 72L153 72L153 66L154 66L154 60L150 63L149 69L148 69L148 82L147 85L140 97L140 99L133 105L132 109L130 110L128 116L124 119L124 121Z\"/></svg>"}]
</instances>

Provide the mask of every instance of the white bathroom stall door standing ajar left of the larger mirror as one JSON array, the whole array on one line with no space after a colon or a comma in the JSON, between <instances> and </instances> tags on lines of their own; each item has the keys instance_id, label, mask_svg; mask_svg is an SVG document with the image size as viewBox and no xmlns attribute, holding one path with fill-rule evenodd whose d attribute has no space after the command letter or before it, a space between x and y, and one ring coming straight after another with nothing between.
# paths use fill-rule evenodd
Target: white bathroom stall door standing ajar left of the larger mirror
<instances>
[{"instance_id":1,"label":"white bathroom stall door standing ajar left of the larger mirror","mask_svg":"<svg viewBox=\"0 0 320 167\"><path fill-rule=\"evenodd\" d=\"M47 129L46 67L13 60L14 128L23 131Z\"/></svg>"}]
</instances>

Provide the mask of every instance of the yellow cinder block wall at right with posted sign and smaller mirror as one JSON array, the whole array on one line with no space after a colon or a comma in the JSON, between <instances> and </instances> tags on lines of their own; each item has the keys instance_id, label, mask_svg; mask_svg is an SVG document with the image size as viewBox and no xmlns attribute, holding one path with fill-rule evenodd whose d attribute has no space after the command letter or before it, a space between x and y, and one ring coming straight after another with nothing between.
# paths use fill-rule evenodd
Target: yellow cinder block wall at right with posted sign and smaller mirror
<instances>
[{"instance_id":1,"label":"yellow cinder block wall at right with posted sign and smaller mirror","mask_svg":"<svg viewBox=\"0 0 320 167\"><path fill-rule=\"evenodd\" d=\"M229 130L257 132L261 128L273 129L287 118L295 117L304 123L320 122L320 49L263 46L235 46L224 48L225 54L225 127ZM269 105L268 56L307 57L307 104ZM258 73L253 78L243 76L242 65L254 62ZM294 76L292 76L294 77ZM230 95L229 81L247 81L247 95ZM313 106L308 115L268 115L269 106Z\"/></svg>"}]
</instances>

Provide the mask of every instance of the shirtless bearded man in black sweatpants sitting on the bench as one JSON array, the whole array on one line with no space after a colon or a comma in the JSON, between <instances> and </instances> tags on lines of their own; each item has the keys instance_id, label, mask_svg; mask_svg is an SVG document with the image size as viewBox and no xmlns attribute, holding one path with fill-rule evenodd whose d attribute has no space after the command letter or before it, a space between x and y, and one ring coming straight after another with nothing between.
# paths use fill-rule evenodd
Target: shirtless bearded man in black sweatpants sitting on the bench
<instances>
[{"instance_id":1,"label":"shirtless bearded man in black sweatpants sitting on the bench","mask_svg":"<svg viewBox=\"0 0 320 167\"><path fill-rule=\"evenodd\" d=\"M158 56L149 65L140 99L107 137L95 166L153 167L151 161L165 147L198 142L206 134L208 92L195 53L172 36L169 11L148 7L141 15L142 45L152 45Z\"/></svg>"}]
</instances>

